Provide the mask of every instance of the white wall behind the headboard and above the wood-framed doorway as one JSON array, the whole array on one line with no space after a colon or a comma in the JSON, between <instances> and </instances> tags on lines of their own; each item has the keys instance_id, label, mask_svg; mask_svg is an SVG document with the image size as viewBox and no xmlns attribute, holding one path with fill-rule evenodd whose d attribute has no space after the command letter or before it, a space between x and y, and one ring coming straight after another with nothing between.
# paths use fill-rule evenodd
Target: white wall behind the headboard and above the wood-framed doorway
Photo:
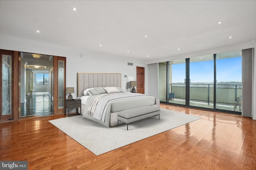
<instances>
[{"instance_id":1,"label":"white wall behind the headboard and above the wood-framed doorway","mask_svg":"<svg viewBox=\"0 0 256 170\"><path fill-rule=\"evenodd\" d=\"M144 61L130 57L98 53L97 51L85 51L72 47L64 47L4 35L1 35L0 49L66 57L66 87L75 88L75 93L72 94L73 98L77 96L78 72L121 73L122 88L126 89L127 78L125 78L124 75L136 78L136 66L146 67ZM80 54L83 54L84 57L80 57ZM128 62L134 63L134 65L128 66ZM145 86L147 86L147 82L145 82ZM33 88L35 91L35 84Z\"/></svg>"}]
</instances>

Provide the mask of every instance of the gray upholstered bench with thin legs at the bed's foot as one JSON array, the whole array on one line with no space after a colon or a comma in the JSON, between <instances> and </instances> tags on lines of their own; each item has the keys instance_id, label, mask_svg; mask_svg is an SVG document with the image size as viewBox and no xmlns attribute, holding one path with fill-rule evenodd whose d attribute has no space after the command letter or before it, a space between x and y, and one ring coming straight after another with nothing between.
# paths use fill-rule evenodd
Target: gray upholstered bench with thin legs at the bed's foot
<instances>
[{"instance_id":1,"label":"gray upholstered bench with thin legs at the bed's foot","mask_svg":"<svg viewBox=\"0 0 256 170\"><path fill-rule=\"evenodd\" d=\"M145 119L148 117L156 116L158 115L158 119L160 119L160 108L157 105L152 106L142 106L142 107L136 107L132 109L127 109L123 111L119 111L117 113L117 125L119 121L123 121L127 124L127 130L128 130L128 124L132 123L134 121L138 121L141 119Z\"/></svg>"}]
</instances>

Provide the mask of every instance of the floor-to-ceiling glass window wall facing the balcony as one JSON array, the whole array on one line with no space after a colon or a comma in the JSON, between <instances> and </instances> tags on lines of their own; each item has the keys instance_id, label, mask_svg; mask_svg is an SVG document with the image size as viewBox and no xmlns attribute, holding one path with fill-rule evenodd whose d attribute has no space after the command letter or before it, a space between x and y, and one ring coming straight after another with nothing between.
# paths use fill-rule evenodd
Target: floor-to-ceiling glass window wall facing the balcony
<instances>
[{"instance_id":1,"label":"floor-to-ceiling glass window wall facing the balcony","mask_svg":"<svg viewBox=\"0 0 256 170\"><path fill-rule=\"evenodd\" d=\"M158 63L160 101L241 113L241 51Z\"/></svg>"}]
</instances>

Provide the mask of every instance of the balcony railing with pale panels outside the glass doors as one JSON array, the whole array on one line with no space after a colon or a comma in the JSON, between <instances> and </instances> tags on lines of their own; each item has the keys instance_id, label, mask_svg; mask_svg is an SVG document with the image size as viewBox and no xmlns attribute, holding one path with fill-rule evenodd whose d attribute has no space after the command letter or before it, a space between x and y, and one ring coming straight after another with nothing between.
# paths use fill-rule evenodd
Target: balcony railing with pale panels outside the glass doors
<instances>
[{"instance_id":1,"label":"balcony railing with pale panels outside the glass doors","mask_svg":"<svg viewBox=\"0 0 256 170\"><path fill-rule=\"evenodd\" d=\"M185 100L185 84L170 84L170 93L176 99ZM234 105L237 98L242 96L241 84L216 84L216 104ZM190 101L213 103L213 84L190 84Z\"/></svg>"}]
</instances>

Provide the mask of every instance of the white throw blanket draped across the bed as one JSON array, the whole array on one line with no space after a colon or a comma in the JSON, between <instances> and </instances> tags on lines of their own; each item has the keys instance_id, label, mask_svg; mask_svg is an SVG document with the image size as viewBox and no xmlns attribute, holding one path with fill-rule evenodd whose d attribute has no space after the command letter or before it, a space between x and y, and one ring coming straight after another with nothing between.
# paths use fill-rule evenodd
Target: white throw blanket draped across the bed
<instances>
[{"instance_id":1,"label":"white throw blanket draped across the bed","mask_svg":"<svg viewBox=\"0 0 256 170\"><path fill-rule=\"evenodd\" d=\"M148 96L140 93L112 93L112 94L103 94L102 96L98 96L94 98L92 103L88 108L88 115L93 115L94 119L98 119L100 121L105 121L106 110L111 101L121 100L124 98L131 97L140 97L140 96Z\"/></svg>"}]
</instances>

